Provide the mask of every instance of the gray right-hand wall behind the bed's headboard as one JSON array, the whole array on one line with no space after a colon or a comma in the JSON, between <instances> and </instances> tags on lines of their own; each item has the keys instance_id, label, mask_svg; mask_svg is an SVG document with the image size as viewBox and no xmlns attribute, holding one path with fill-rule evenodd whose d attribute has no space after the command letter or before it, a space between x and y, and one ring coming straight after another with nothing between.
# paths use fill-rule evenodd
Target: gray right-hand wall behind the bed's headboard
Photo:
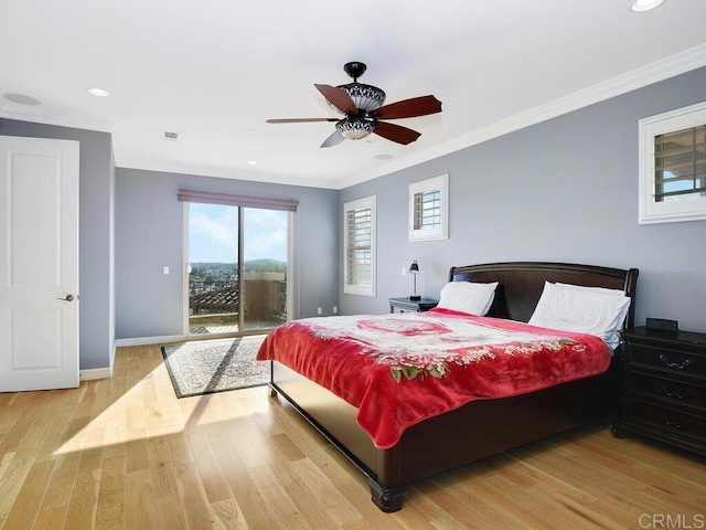
<instances>
[{"instance_id":1,"label":"gray right-hand wall behind the bed's headboard","mask_svg":"<svg viewBox=\"0 0 706 530\"><path fill-rule=\"evenodd\" d=\"M428 297L452 265L554 261L638 267L639 325L674 318L706 331L706 221L638 224L638 120L703 102L705 86L699 68L342 190L340 212L376 194L378 215L377 297L341 288L342 312L387 311L388 297L411 293L411 259ZM409 183L447 172L449 240L409 243Z\"/></svg>"}]
</instances>

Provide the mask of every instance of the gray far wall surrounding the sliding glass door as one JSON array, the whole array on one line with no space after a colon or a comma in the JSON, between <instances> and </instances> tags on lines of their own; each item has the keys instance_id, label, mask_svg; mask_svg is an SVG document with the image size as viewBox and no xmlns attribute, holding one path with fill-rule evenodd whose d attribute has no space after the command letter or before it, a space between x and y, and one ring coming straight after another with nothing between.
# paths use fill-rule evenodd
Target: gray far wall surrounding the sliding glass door
<instances>
[{"instance_id":1,"label":"gray far wall surrounding the sliding glass door","mask_svg":"<svg viewBox=\"0 0 706 530\"><path fill-rule=\"evenodd\" d=\"M182 333L183 203L179 188L296 199L295 318L331 315L338 305L338 195L334 190L117 169L116 337ZM162 274L168 265L171 274Z\"/></svg>"}]
</instances>

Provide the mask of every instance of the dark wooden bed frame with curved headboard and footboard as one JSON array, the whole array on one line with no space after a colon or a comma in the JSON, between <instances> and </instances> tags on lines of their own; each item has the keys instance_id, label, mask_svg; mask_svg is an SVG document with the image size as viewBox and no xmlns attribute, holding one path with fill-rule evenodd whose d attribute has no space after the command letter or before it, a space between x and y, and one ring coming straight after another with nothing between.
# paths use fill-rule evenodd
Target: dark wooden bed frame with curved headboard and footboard
<instances>
[{"instance_id":1,"label":"dark wooden bed frame with curved headboard and footboard","mask_svg":"<svg viewBox=\"0 0 706 530\"><path fill-rule=\"evenodd\" d=\"M499 282L489 316L527 321L544 282L623 289L633 298L638 269L563 263L494 263L451 267L449 282ZM617 358L619 356L613 356ZM441 471L565 432L616 410L617 361L600 375L528 394L474 401L407 428L392 448L378 449L357 425L357 409L272 361L270 395L281 395L367 477L383 511L402 509L407 485Z\"/></svg>"}]
</instances>

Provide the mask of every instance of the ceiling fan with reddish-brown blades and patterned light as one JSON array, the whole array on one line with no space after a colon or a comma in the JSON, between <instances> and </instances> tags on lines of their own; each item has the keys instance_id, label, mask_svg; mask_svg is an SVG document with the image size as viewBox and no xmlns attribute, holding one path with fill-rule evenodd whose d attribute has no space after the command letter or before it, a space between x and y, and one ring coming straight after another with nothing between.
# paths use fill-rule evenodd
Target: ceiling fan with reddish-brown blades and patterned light
<instances>
[{"instance_id":1,"label":"ceiling fan with reddish-brown blades and patterned light","mask_svg":"<svg viewBox=\"0 0 706 530\"><path fill-rule=\"evenodd\" d=\"M353 77L347 85L313 86L325 97L329 106L343 118L284 118L268 119L268 124L299 124L308 121L335 121L335 131L327 138L321 147L338 146L344 139L360 140L376 134L397 144L407 145L421 136L416 130L388 124L385 119L414 118L441 112L441 102L434 96L413 97L402 102L383 105L385 92L376 86L365 85L357 78L365 73L367 66L361 62L346 63L343 71Z\"/></svg>"}]
</instances>

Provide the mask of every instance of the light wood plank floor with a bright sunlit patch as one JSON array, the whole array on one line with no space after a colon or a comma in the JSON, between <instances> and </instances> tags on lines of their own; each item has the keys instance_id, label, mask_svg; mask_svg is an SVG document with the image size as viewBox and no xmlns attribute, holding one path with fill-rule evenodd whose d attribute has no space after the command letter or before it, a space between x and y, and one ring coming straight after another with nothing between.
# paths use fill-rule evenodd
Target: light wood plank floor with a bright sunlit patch
<instances>
[{"instance_id":1,"label":"light wood plank floor with a bright sunlit patch","mask_svg":"<svg viewBox=\"0 0 706 530\"><path fill-rule=\"evenodd\" d=\"M420 481L385 515L266 388L178 400L159 347L119 349L111 380L0 394L6 529L704 528L705 513L704 458L595 426Z\"/></svg>"}]
</instances>

